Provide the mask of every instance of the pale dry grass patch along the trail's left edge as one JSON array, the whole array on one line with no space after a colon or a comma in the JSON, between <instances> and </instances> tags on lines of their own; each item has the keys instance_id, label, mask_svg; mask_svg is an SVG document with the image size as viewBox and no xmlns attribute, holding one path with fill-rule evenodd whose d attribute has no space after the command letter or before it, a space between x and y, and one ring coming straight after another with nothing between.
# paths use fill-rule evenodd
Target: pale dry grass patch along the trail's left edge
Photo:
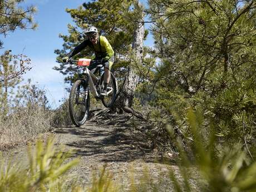
<instances>
[{"instance_id":1,"label":"pale dry grass patch along the trail's left edge","mask_svg":"<svg viewBox=\"0 0 256 192\"><path fill-rule=\"evenodd\" d=\"M33 141L51 129L52 112L41 106L17 107L12 115L0 119L0 150Z\"/></svg>"}]
</instances>

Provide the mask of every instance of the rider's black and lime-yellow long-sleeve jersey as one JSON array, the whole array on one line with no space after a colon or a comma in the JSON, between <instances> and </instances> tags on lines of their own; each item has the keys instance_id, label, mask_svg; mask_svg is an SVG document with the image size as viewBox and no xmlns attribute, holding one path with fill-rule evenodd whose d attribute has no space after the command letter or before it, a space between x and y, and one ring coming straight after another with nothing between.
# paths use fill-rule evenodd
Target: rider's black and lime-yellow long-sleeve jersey
<instances>
[{"instance_id":1,"label":"rider's black and lime-yellow long-sleeve jersey","mask_svg":"<svg viewBox=\"0 0 256 192\"><path fill-rule=\"evenodd\" d=\"M68 53L68 57L73 57L87 46L95 51L96 58L106 58L106 60L109 60L109 58L114 55L114 51L112 50L109 41L107 41L107 38L104 36L99 36L99 41L96 45L93 45L90 40L85 40L80 45L76 46L73 51Z\"/></svg>"}]
</instances>

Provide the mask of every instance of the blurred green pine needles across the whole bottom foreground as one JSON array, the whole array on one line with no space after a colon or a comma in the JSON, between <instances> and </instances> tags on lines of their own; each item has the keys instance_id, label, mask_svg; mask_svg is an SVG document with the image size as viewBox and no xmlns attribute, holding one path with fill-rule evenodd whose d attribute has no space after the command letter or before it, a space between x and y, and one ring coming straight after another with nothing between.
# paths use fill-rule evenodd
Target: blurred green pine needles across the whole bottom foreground
<instances>
[{"instance_id":1,"label":"blurred green pine needles across the whole bottom foreground","mask_svg":"<svg viewBox=\"0 0 256 192\"><path fill-rule=\"evenodd\" d=\"M256 163L248 158L244 147L239 143L233 145L221 143L212 122L208 126L209 130L205 131L204 118L200 110L194 111L191 107L186 117L192 136L191 142L184 147L182 138L174 134L174 127L170 125L166 127L178 147L179 154L173 166L166 165L167 170L156 173L159 174L157 178L150 172L149 166L141 168L142 175L136 175L137 173L131 168L130 179L124 187L114 180L114 176L118 178L118 175L112 175L105 165L99 175L93 174L91 184L86 188L75 179L76 175L64 175L78 163L78 160L69 159L72 152L57 149L53 145L53 139L50 138L46 144L38 140L35 147L29 147L28 167L13 160L2 160L0 190L255 191Z\"/></svg>"}]
</instances>

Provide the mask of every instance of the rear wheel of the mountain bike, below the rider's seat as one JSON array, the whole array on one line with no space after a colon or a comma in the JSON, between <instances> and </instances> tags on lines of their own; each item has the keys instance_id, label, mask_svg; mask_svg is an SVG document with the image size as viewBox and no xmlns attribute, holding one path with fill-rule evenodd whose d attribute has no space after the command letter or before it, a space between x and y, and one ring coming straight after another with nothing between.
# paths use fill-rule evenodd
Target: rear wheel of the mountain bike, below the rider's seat
<instances>
[{"instance_id":1,"label":"rear wheel of the mountain bike, below the rider's seat","mask_svg":"<svg viewBox=\"0 0 256 192\"><path fill-rule=\"evenodd\" d=\"M100 85L101 87L104 87L104 74L105 72L102 74L101 76L101 80L100 80ZM107 85L107 96L105 97L101 97L101 101L102 101L102 104L105 106L105 107L111 107L115 100L116 100L116 78L115 76L113 75L112 72L110 72L110 82L109 84Z\"/></svg>"}]
</instances>

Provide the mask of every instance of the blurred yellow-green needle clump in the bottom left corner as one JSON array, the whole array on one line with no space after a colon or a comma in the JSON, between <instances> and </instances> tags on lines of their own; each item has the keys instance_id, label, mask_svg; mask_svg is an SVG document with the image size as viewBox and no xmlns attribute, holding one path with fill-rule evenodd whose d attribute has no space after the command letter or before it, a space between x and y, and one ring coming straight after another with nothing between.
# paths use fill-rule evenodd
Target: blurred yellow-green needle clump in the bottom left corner
<instances>
[{"instance_id":1,"label":"blurred yellow-green needle clump in the bottom left corner","mask_svg":"<svg viewBox=\"0 0 256 192\"><path fill-rule=\"evenodd\" d=\"M71 151L58 150L53 138L45 144L38 140L33 148L28 148L28 165L20 160L1 160L0 191L78 191L65 183L64 174L78 163L77 159L66 161Z\"/></svg>"}]
</instances>

